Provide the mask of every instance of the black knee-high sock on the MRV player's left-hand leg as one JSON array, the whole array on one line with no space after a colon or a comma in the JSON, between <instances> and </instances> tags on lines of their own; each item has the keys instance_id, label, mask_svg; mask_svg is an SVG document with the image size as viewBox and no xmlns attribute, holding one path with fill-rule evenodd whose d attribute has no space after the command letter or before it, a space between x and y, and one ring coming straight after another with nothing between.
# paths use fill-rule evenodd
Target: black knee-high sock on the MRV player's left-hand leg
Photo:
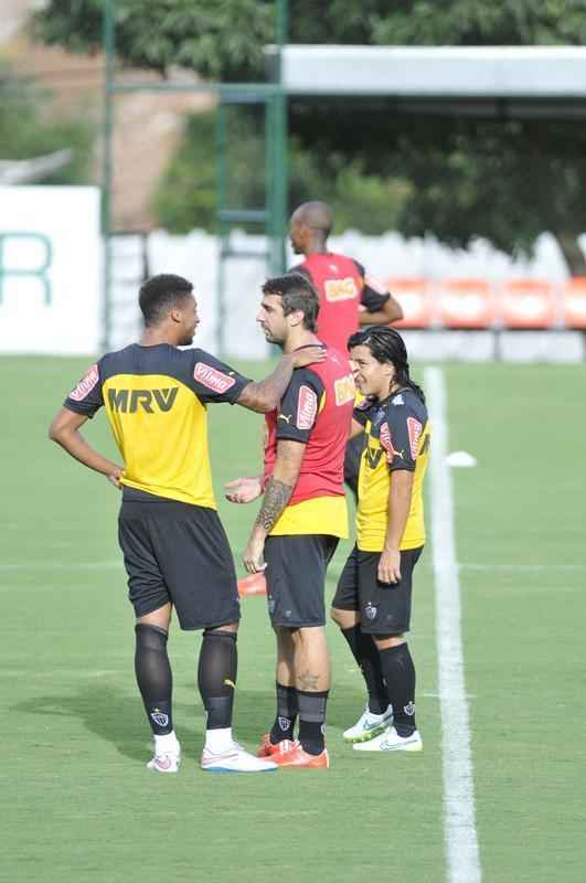
<instances>
[{"instance_id":1,"label":"black knee-high sock on the MRV player's left-hand leg","mask_svg":"<svg viewBox=\"0 0 586 883\"><path fill-rule=\"evenodd\" d=\"M138 623L136 628L135 672L145 711L156 736L173 728L171 694L173 677L167 655L167 631Z\"/></svg>"}]
</instances>

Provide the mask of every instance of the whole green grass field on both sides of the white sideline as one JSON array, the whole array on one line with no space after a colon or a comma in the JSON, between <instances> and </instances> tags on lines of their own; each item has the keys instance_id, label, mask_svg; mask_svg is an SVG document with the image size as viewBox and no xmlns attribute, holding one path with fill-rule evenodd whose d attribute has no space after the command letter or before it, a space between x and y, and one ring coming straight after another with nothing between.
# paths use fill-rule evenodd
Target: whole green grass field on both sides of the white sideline
<instances>
[{"instance_id":1,"label":"whole green grass field on both sides of the white sideline","mask_svg":"<svg viewBox=\"0 0 586 883\"><path fill-rule=\"evenodd\" d=\"M52 414L86 366L0 359L0 880L444 883L429 549L416 574L411 639L422 755L359 755L343 745L341 731L363 695L331 626L332 768L203 774L200 637L175 629L170 651L185 762L177 777L146 770L150 736L134 683L117 493L46 440ZM256 377L264 371L245 369ZM585 371L448 366L445 376L450 449L478 458L477 468L454 470L452 482L482 880L583 883ZM242 408L210 414L220 497L225 480L254 472L262 428ZM104 415L87 435L113 450ZM221 501L220 509L238 562L256 508ZM329 596L348 550L337 553ZM235 730L251 748L273 717L273 655L265 602L247 598Z\"/></svg>"}]
</instances>

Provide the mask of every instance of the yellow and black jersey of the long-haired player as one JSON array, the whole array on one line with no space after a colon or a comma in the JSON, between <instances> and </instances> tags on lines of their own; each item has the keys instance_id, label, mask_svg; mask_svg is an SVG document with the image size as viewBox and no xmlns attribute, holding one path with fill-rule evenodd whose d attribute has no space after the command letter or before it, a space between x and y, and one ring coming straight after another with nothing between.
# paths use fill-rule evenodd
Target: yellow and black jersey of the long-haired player
<instances>
[{"instance_id":1,"label":"yellow and black jersey of the long-haired player","mask_svg":"<svg viewBox=\"0 0 586 883\"><path fill-rule=\"evenodd\" d=\"M363 552L382 552L393 472L407 469L415 476L401 549L418 549L425 543L423 480L430 438L427 409L413 390L404 389L383 402L365 400L354 408L354 419L366 433L360 461L356 545Z\"/></svg>"}]
</instances>

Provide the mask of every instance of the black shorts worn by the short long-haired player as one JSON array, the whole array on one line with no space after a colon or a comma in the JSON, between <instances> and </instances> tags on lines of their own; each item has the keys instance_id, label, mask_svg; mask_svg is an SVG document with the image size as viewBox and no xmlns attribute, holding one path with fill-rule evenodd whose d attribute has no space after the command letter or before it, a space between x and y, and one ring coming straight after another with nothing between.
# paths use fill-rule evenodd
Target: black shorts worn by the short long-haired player
<instances>
[{"instance_id":1,"label":"black shorts worn by the short long-haired player","mask_svg":"<svg viewBox=\"0 0 586 883\"><path fill-rule=\"evenodd\" d=\"M380 552L354 546L340 576L332 607L360 610L361 628L367 635L402 635L409 630L413 568L423 546L401 553L401 582L380 583Z\"/></svg>"}]
</instances>

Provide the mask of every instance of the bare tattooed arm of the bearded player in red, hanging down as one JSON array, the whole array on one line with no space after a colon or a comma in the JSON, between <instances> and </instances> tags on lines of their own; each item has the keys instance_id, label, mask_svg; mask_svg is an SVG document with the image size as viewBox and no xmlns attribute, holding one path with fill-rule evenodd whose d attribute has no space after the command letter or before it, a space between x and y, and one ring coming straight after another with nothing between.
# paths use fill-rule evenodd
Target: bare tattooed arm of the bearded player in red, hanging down
<instances>
[{"instance_id":1,"label":"bare tattooed arm of the bearded player in red, hanging down","mask_svg":"<svg viewBox=\"0 0 586 883\"><path fill-rule=\"evenodd\" d=\"M301 442L281 439L277 443L275 469L244 552L244 566L248 573L259 573L265 570L265 540L291 499L305 451L306 446Z\"/></svg>"}]
</instances>

